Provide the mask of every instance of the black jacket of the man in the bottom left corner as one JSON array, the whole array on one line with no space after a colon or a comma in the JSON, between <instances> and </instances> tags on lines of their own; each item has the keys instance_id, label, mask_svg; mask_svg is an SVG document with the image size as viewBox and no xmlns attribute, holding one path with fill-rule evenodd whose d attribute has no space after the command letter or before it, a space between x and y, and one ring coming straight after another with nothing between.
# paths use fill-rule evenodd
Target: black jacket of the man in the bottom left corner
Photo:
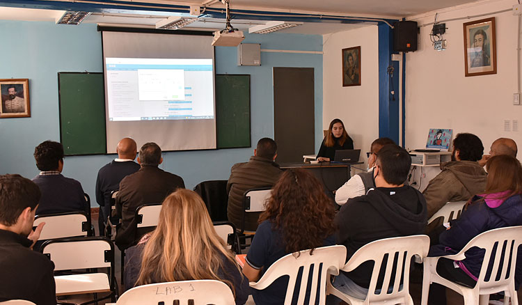
<instances>
[{"instance_id":1,"label":"black jacket of the man in the bottom left corner","mask_svg":"<svg viewBox=\"0 0 522 305\"><path fill-rule=\"evenodd\" d=\"M38 305L56 305L54 264L29 249L33 242L0 230L0 302L26 299Z\"/></svg>"}]
</instances>

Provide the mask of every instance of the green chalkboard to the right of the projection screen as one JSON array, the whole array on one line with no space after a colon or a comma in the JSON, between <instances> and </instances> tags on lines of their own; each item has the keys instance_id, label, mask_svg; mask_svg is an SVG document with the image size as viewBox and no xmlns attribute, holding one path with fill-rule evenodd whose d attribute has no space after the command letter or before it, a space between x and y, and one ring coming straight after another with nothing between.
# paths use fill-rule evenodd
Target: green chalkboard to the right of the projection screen
<instances>
[{"instance_id":1,"label":"green chalkboard to the right of the projection screen","mask_svg":"<svg viewBox=\"0 0 522 305\"><path fill-rule=\"evenodd\" d=\"M251 147L250 75L216 75L217 148Z\"/></svg>"}]
</instances>

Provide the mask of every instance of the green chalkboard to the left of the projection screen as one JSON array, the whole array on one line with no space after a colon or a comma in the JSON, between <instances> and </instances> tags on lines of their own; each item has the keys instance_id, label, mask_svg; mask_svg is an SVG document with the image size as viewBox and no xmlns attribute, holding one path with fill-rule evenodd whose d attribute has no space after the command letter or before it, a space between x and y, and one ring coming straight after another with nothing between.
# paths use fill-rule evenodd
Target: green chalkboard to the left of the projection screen
<instances>
[{"instance_id":1,"label":"green chalkboard to the left of the projection screen","mask_svg":"<svg viewBox=\"0 0 522 305\"><path fill-rule=\"evenodd\" d=\"M65 155L106 153L103 73L58 72L60 140Z\"/></svg>"}]
</instances>

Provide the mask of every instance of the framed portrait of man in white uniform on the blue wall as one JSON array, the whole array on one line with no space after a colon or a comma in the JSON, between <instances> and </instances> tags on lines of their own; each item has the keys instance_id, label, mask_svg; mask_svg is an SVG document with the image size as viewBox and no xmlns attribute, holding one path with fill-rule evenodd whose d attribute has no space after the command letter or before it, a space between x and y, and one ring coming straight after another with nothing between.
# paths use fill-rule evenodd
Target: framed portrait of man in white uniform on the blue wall
<instances>
[{"instance_id":1,"label":"framed portrait of man in white uniform on the blue wall","mask_svg":"<svg viewBox=\"0 0 522 305\"><path fill-rule=\"evenodd\" d=\"M27 118L29 109L29 79L0 79L0 118Z\"/></svg>"}]
</instances>

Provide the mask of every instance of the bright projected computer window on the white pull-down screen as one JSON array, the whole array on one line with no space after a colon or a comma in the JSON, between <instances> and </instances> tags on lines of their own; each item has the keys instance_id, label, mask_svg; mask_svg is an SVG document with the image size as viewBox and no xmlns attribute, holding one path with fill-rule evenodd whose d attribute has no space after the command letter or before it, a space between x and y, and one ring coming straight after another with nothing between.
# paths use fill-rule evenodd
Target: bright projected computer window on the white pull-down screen
<instances>
[{"instance_id":1,"label":"bright projected computer window on the white pull-down screen","mask_svg":"<svg viewBox=\"0 0 522 305\"><path fill-rule=\"evenodd\" d=\"M105 58L109 121L214 119L212 58Z\"/></svg>"}]
</instances>

